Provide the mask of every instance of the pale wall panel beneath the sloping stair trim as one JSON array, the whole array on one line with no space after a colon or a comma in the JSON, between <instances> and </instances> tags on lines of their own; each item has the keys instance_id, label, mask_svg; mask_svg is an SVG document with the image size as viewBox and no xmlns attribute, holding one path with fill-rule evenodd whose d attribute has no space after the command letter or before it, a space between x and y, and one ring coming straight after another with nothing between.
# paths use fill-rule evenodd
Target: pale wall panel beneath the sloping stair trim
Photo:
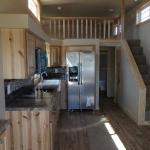
<instances>
[{"instance_id":1,"label":"pale wall panel beneath the sloping stair trim","mask_svg":"<svg viewBox=\"0 0 150 150\"><path fill-rule=\"evenodd\" d=\"M118 104L134 121L138 122L139 85L131 67L122 49Z\"/></svg>"}]
</instances>

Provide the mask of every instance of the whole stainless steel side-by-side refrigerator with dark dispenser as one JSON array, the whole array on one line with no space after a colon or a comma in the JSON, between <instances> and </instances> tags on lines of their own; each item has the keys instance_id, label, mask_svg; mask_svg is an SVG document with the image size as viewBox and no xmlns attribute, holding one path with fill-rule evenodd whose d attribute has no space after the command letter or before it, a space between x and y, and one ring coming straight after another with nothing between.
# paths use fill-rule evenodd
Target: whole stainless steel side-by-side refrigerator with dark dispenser
<instances>
[{"instance_id":1,"label":"whole stainless steel side-by-side refrigerator with dark dispenser","mask_svg":"<svg viewBox=\"0 0 150 150\"><path fill-rule=\"evenodd\" d=\"M68 109L95 107L95 53L68 51Z\"/></svg>"}]
</instances>

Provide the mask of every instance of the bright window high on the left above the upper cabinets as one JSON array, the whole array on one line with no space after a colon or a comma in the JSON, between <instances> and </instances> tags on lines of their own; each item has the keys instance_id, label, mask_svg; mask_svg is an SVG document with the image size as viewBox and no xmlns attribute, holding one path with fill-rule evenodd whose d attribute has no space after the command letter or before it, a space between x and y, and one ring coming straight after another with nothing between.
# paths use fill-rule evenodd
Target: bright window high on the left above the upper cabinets
<instances>
[{"instance_id":1,"label":"bright window high on the left above the upper cabinets","mask_svg":"<svg viewBox=\"0 0 150 150\"><path fill-rule=\"evenodd\" d=\"M38 0L28 0L28 8L34 16L40 21L40 4Z\"/></svg>"}]
</instances>

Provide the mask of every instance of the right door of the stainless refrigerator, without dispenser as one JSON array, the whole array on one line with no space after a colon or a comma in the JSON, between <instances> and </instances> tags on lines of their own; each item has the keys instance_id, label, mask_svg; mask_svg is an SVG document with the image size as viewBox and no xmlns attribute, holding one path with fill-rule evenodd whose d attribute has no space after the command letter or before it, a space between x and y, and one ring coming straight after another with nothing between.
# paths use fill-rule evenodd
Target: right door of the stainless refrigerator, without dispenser
<instances>
[{"instance_id":1,"label":"right door of the stainless refrigerator, without dispenser","mask_svg":"<svg viewBox=\"0 0 150 150\"><path fill-rule=\"evenodd\" d=\"M95 104L95 53L80 52L80 109L93 109Z\"/></svg>"}]
</instances>

